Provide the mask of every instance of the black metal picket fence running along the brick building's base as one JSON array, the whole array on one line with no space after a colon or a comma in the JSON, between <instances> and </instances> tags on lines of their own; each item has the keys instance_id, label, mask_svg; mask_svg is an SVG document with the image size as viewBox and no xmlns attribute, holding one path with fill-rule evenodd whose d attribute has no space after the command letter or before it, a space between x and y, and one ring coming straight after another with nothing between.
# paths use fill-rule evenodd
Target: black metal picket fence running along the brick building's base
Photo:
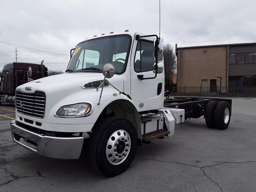
<instances>
[{"instance_id":1,"label":"black metal picket fence running along the brick building's base","mask_svg":"<svg viewBox=\"0 0 256 192\"><path fill-rule=\"evenodd\" d=\"M165 87L171 93L179 95L206 95L206 96L252 96L256 95L256 86L171 86Z\"/></svg>"}]
</instances>

